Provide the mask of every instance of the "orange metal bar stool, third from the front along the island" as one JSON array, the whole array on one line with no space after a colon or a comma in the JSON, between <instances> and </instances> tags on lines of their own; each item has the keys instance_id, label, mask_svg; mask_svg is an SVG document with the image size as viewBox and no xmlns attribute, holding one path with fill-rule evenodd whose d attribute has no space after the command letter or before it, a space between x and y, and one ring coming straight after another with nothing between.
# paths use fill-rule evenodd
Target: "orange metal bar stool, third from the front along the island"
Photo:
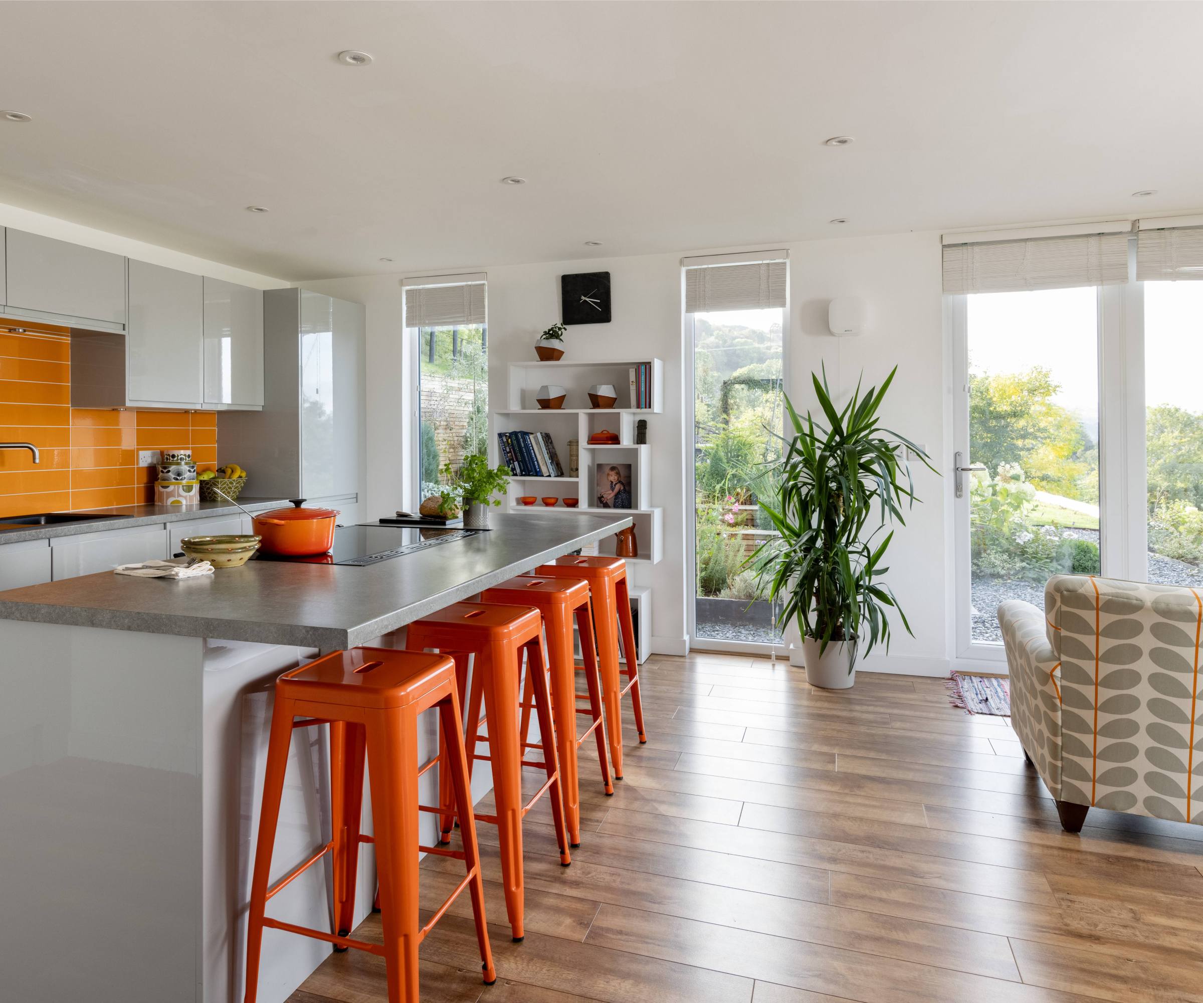
<instances>
[{"instance_id":1,"label":"orange metal bar stool, third from the front along the island","mask_svg":"<svg viewBox=\"0 0 1203 1003\"><path fill-rule=\"evenodd\" d=\"M591 734L598 743L602 761L602 785L608 795L614 793L610 783L610 766L605 755L605 732L602 727L602 688L598 678L597 655L593 651L593 609L589 603L587 582L567 578L540 578L537 574L520 574L486 589L480 594L482 602L500 602L512 606L533 606L543 616L547 638L547 662L551 666L551 713L556 725L556 756L564 792L564 815L568 822L568 843L581 844L581 793L576 750ZM585 656L585 680L588 685L588 707L576 706L576 663L573 656L573 616L581 632L581 651ZM522 694L522 722L520 727L522 749L541 749L541 743L531 744L527 734L531 710L534 709L534 673L527 666L526 688ZM576 715L585 714L592 724L583 734L576 734ZM541 728L540 728L541 731ZM525 751L523 751L525 755Z\"/></svg>"}]
</instances>

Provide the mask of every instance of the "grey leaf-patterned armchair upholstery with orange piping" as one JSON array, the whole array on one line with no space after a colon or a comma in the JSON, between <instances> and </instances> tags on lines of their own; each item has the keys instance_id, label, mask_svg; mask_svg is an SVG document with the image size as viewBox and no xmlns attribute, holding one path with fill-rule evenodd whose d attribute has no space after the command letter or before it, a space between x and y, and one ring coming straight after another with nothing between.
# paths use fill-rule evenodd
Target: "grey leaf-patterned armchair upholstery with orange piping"
<instances>
[{"instance_id":1,"label":"grey leaf-patterned armchair upholstery with orange piping","mask_svg":"<svg viewBox=\"0 0 1203 1003\"><path fill-rule=\"evenodd\" d=\"M1057 574L1044 596L998 624L1012 724L1053 796L1203 824L1203 594Z\"/></svg>"}]
</instances>

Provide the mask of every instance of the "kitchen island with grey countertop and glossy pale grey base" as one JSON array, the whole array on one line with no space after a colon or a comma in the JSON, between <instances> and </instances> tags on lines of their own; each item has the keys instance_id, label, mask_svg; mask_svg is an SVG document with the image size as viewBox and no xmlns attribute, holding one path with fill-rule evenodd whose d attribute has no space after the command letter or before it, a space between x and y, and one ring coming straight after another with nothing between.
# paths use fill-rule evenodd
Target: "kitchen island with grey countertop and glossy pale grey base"
<instances>
[{"instance_id":1,"label":"kitchen island with grey countertop and glossy pale grey base","mask_svg":"<svg viewBox=\"0 0 1203 1003\"><path fill-rule=\"evenodd\" d=\"M182 582L101 573L0 592L4 991L241 999L275 677L325 651L399 647L405 624L630 525L620 513L493 520L367 567L256 560ZM294 738L272 880L330 838L324 732ZM429 755L433 720L420 742ZM422 779L432 797L433 773ZM362 852L357 920L373 895ZM312 868L272 914L328 928L328 881ZM286 999L328 951L267 931L259 998Z\"/></svg>"}]
</instances>

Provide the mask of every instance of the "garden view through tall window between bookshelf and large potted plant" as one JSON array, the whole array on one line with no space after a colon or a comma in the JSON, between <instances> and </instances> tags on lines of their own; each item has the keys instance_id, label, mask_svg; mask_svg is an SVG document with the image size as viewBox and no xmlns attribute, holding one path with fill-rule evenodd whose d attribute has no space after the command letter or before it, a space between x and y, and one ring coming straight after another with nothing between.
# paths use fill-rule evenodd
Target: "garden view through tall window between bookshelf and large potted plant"
<instances>
[{"instance_id":1,"label":"garden view through tall window between bookshelf and large potted plant","mask_svg":"<svg viewBox=\"0 0 1203 1003\"><path fill-rule=\"evenodd\" d=\"M781 644L747 559L772 523L760 511L783 419L781 308L693 314L695 633Z\"/></svg>"}]
</instances>

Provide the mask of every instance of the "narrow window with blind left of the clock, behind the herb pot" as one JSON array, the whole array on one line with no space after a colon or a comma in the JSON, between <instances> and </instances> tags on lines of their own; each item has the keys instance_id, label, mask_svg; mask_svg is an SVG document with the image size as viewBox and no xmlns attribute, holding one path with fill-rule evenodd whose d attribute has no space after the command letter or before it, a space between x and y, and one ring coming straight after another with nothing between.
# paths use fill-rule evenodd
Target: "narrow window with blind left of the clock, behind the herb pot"
<instances>
[{"instance_id":1,"label":"narrow window with blind left of the clock, behind the herb pot","mask_svg":"<svg viewBox=\"0 0 1203 1003\"><path fill-rule=\"evenodd\" d=\"M431 282L431 279L419 279ZM488 450L488 326L482 281L405 288L417 353L416 484L438 492L466 456Z\"/></svg>"}]
</instances>

